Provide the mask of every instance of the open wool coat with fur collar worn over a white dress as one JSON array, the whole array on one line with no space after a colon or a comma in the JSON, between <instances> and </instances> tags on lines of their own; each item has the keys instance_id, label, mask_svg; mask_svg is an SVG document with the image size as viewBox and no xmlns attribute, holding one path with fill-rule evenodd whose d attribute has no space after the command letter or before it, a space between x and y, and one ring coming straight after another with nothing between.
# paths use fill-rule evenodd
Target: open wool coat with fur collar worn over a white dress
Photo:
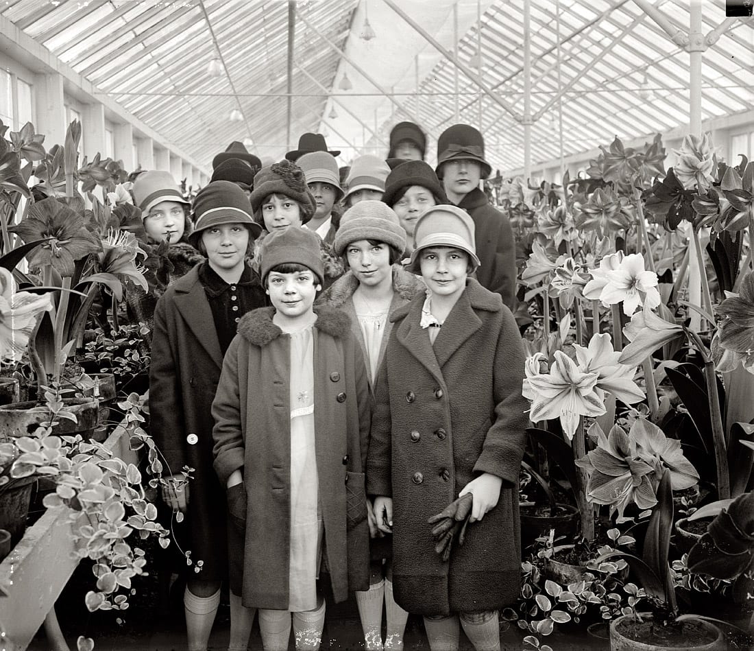
<instances>
[{"instance_id":1,"label":"open wool coat with fur collar worn over a white dress","mask_svg":"<svg viewBox=\"0 0 754 651\"><path fill-rule=\"evenodd\" d=\"M314 430L324 557L333 596L369 588L364 462L369 388L348 315L315 309ZM245 315L212 405L215 469L242 469L247 493L243 603L287 610L290 557L290 336L274 308Z\"/></svg>"}]
</instances>

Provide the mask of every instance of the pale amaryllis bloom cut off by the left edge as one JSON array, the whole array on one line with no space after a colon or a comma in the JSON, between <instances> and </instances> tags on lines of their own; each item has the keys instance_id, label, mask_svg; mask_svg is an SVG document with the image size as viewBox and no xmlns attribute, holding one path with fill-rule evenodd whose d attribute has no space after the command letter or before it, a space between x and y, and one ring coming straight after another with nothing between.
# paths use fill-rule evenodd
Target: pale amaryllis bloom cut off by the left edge
<instances>
[{"instance_id":1,"label":"pale amaryllis bloom cut off by the left edge","mask_svg":"<svg viewBox=\"0 0 754 651\"><path fill-rule=\"evenodd\" d=\"M37 315L50 309L50 294L14 293L13 275L0 267L0 358L19 361L29 345Z\"/></svg>"}]
</instances>

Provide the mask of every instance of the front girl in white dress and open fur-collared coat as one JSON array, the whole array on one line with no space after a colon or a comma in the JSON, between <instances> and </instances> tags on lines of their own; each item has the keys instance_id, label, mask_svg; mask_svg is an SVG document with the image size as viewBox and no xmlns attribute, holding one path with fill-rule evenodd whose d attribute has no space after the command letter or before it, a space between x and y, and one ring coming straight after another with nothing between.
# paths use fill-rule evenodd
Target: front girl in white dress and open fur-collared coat
<instances>
[{"instance_id":1,"label":"front girl in white dress and open fur-collared coat","mask_svg":"<svg viewBox=\"0 0 754 651\"><path fill-rule=\"evenodd\" d=\"M317 579L336 602L369 585L369 389L348 316L312 307L319 244L297 228L265 239L273 307L241 319L212 407L215 469L245 528L244 605L259 608L265 651L287 649L292 613L296 649L319 648Z\"/></svg>"}]
</instances>

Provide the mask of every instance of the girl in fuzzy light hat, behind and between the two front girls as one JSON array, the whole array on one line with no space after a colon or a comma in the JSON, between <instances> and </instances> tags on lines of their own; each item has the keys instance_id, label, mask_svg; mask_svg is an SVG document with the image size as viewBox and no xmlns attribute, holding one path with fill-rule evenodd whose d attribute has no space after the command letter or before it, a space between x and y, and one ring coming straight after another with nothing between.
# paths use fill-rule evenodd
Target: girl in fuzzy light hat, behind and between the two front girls
<instances>
[{"instance_id":1,"label":"girl in fuzzy light hat, behind and between the two front girls","mask_svg":"<svg viewBox=\"0 0 754 651\"><path fill-rule=\"evenodd\" d=\"M382 201L359 201L345 211L335 238L335 250L345 260L348 272L321 297L329 306L344 310L351 317L351 330L360 343L366 363L369 391L374 394L379 365L385 355L392 324L388 313L424 293L424 284L396 264L406 247L395 213ZM369 508L369 533L372 539L383 534L376 527L372 505ZM391 539L372 540L372 567L368 591L356 593L366 649L383 648L382 602L385 601L387 634L385 649L403 649L403 631L408 613L393 599L389 566ZM386 572L384 570L387 570Z\"/></svg>"}]
</instances>

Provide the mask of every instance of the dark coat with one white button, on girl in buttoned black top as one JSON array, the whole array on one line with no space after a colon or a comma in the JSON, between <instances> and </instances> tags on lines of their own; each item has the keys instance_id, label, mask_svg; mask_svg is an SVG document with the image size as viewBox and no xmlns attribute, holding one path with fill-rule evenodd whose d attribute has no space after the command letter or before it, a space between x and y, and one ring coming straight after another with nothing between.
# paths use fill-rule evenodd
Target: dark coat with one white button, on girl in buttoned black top
<instances>
[{"instance_id":1,"label":"dark coat with one white button, on girl in buttoned black top","mask_svg":"<svg viewBox=\"0 0 754 651\"><path fill-rule=\"evenodd\" d=\"M265 303L259 284L257 304ZM176 542L192 552L194 563L203 561L201 575L195 576L207 581L228 575L225 487L213 469L215 422L210 412L221 370L212 310L195 267L167 289L155 309L149 420L167 463L165 473L177 474L185 465L194 468L185 527L176 530L187 537Z\"/></svg>"}]
</instances>

